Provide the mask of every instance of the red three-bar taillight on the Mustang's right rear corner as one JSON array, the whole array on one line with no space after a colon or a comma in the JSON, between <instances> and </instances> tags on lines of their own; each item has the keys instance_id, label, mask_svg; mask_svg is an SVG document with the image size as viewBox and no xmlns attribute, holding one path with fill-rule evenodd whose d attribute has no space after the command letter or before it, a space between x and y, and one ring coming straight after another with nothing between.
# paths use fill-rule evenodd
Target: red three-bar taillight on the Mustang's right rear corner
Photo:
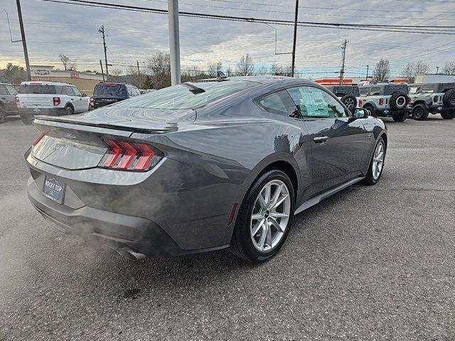
<instances>
[{"instance_id":1,"label":"red three-bar taillight on the Mustang's right rear corner","mask_svg":"<svg viewBox=\"0 0 455 341\"><path fill-rule=\"evenodd\" d=\"M103 139L109 147L98 166L125 171L148 171L161 159L147 144Z\"/></svg>"}]
</instances>

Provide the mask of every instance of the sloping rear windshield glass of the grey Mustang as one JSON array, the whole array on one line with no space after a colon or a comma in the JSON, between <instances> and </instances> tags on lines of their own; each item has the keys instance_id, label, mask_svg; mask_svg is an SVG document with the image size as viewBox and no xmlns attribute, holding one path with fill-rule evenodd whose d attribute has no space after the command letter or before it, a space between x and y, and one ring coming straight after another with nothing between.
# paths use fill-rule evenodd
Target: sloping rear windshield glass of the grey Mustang
<instances>
[{"instance_id":1,"label":"sloping rear windshield glass of the grey Mustang","mask_svg":"<svg viewBox=\"0 0 455 341\"><path fill-rule=\"evenodd\" d=\"M191 109L203 107L205 104L235 92L254 87L259 83L246 80L225 80L223 82L191 83L204 92L193 93L184 85L175 85L161 90L149 92L142 96L128 99L115 104L116 107L151 108L151 109Z\"/></svg>"}]
</instances>

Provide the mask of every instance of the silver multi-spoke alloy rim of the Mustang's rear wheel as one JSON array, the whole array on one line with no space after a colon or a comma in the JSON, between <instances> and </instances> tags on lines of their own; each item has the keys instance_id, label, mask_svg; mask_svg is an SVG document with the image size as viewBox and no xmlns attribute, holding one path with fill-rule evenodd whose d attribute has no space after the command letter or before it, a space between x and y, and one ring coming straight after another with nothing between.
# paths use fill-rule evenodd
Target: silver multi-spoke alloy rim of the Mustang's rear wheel
<instances>
[{"instance_id":1,"label":"silver multi-spoke alloy rim of the Mustang's rear wheel","mask_svg":"<svg viewBox=\"0 0 455 341\"><path fill-rule=\"evenodd\" d=\"M284 236L291 212L289 188L281 180L271 180L260 190L253 206L250 236L260 252L272 251Z\"/></svg>"}]
</instances>

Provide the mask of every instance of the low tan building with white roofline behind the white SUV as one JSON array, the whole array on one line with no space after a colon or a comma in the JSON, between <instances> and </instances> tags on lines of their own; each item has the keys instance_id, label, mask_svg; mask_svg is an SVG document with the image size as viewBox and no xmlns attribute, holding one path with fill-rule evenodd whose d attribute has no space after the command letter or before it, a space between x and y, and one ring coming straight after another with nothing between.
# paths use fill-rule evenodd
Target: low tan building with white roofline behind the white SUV
<instances>
[{"instance_id":1,"label":"low tan building with white roofline behind the white SUV","mask_svg":"<svg viewBox=\"0 0 455 341\"><path fill-rule=\"evenodd\" d=\"M48 82L66 82L73 84L84 94L93 94L97 83L102 82L103 75L92 72L77 72L72 70L55 70L51 65L31 65L31 80L46 80Z\"/></svg>"}]
</instances>

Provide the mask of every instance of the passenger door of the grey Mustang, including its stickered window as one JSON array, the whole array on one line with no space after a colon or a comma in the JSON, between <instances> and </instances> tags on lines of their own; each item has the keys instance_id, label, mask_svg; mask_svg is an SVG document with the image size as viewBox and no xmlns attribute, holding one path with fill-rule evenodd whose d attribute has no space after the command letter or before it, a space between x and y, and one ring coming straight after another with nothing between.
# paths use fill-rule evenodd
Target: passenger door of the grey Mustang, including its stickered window
<instances>
[{"instance_id":1,"label":"passenger door of the grey Mustang, including its stickered window","mask_svg":"<svg viewBox=\"0 0 455 341\"><path fill-rule=\"evenodd\" d=\"M333 94L319 87L291 87L287 91L309 132L315 192L329 190L360 175L365 148L362 120L353 119Z\"/></svg>"}]
</instances>

